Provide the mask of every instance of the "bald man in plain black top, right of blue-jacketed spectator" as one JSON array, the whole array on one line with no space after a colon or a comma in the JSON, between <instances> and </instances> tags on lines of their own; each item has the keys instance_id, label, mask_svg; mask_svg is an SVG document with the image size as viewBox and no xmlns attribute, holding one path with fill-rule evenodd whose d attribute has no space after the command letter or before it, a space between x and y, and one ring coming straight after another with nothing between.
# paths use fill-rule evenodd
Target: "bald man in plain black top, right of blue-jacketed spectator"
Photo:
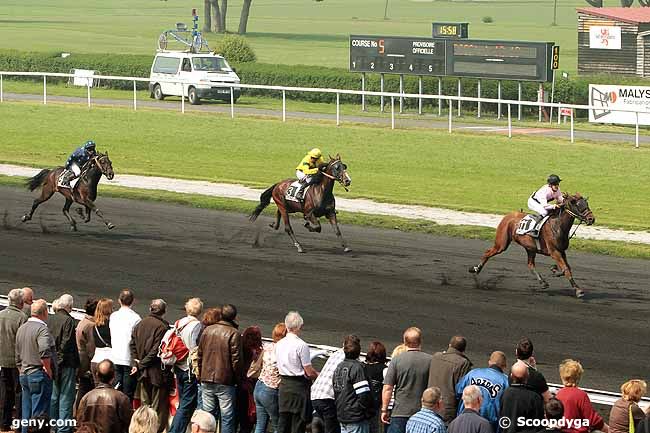
<instances>
[{"instance_id":1,"label":"bald man in plain black top, right of blue-jacketed spectator","mask_svg":"<svg viewBox=\"0 0 650 433\"><path fill-rule=\"evenodd\" d=\"M503 433L535 432L534 427L518 426L517 419L544 418L544 400L539 393L526 386L529 367L523 361L517 361L510 370L510 386L501 395L501 418L507 418L509 425L503 427Z\"/></svg>"}]
</instances>

